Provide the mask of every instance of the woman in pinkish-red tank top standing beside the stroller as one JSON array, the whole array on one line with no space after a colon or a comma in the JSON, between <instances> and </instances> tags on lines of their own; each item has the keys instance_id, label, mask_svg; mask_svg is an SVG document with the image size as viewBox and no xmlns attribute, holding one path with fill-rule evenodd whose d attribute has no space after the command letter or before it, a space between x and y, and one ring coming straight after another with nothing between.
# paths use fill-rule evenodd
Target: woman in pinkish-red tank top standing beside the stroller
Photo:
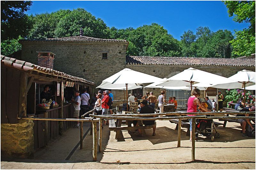
<instances>
[{"instance_id":1,"label":"woman in pinkish-red tank top standing beside the stroller","mask_svg":"<svg viewBox=\"0 0 256 170\"><path fill-rule=\"evenodd\" d=\"M197 105L200 106L200 108L202 108L202 110L204 110L205 112L209 112L204 106L202 106L202 104L200 103L199 99L197 97L199 97L201 94L199 89L194 89L191 91L191 96L188 98L188 110L187 112L196 112L196 107ZM188 114L187 116L195 116L194 114ZM192 142L192 119L188 119L189 124L190 124L190 139L189 141Z\"/></svg>"}]
</instances>

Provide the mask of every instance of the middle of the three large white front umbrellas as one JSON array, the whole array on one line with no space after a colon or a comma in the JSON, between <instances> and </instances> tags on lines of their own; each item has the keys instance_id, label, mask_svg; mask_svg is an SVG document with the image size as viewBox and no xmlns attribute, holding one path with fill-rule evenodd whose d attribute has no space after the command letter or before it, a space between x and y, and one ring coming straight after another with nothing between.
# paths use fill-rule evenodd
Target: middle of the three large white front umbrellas
<instances>
[{"instance_id":1,"label":"middle of the three large white front umbrellas","mask_svg":"<svg viewBox=\"0 0 256 170\"><path fill-rule=\"evenodd\" d=\"M190 89L192 90L192 85L194 83L216 84L216 82L230 83L234 81L226 77L222 77L216 74L208 73L208 72L190 67L184 70L183 72L168 78L165 82L161 84L157 84L157 86L190 86ZM194 86L196 87L196 84L194 84ZM197 85L197 87L200 87L200 86ZM205 87L205 86L201 86L201 87Z\"/></svg>"}]
</instances>

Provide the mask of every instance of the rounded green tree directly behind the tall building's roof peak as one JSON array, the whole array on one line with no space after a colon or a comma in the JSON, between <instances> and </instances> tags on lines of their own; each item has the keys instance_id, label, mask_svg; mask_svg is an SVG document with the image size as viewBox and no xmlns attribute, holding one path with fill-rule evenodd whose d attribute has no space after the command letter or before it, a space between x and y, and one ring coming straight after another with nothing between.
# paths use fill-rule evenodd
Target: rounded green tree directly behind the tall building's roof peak
<instances>
[{"instance_id":1,"label":"rounded green tree directly behind the tall building's roof peak","mask_svg":"<svg viewBox=\"0 0 256 170\"><path fill-rule=\"evenodd\" d=\"M109 28L102 19L96 19L90 12L78 8L68 12L60 18L54 34L56 37L78 36L80 28L83 28L84 36L95 38L108 38Z\"/></svg>"}]
</instances>

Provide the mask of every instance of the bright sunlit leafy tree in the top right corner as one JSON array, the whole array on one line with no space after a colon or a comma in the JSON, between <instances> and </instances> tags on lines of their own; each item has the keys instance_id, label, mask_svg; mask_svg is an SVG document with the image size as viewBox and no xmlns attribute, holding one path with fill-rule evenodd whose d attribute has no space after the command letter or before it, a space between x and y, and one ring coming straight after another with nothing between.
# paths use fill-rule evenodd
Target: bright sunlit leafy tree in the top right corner
<instances>
[{"instance_id":1,"label":"bright sunlit leafy tree in the top right corner","mask_svg":"<svg viewBox=\"0 0 256 170\"><path fill-rule=\"evenodd\" d=\"M255 1L224 1L230 17L235 22L250 23L248 28L235 32L235 39L231 41L234 54L249 56L255 53Z\"/></svg>"}]
</instances>

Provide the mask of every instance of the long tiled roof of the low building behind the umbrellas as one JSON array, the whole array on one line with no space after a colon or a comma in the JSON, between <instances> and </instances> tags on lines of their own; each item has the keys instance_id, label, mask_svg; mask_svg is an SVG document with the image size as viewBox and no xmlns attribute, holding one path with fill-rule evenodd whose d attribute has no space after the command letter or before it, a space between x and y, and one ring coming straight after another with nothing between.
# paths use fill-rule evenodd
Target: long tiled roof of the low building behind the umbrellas
<instances>
[{"instance_id":1,"label":"long tiled roof of the low building behind the umbrellas","mask_svg":"<svg viewBox=\"0 0 256 170\"><path fill-rule=\"evenodd\" d=\"M127 56L126 64L130 65L181 65L181 66L253 66L255 58L193 58L193 57L145 57Z\"/></svg>"}]
</instances>

